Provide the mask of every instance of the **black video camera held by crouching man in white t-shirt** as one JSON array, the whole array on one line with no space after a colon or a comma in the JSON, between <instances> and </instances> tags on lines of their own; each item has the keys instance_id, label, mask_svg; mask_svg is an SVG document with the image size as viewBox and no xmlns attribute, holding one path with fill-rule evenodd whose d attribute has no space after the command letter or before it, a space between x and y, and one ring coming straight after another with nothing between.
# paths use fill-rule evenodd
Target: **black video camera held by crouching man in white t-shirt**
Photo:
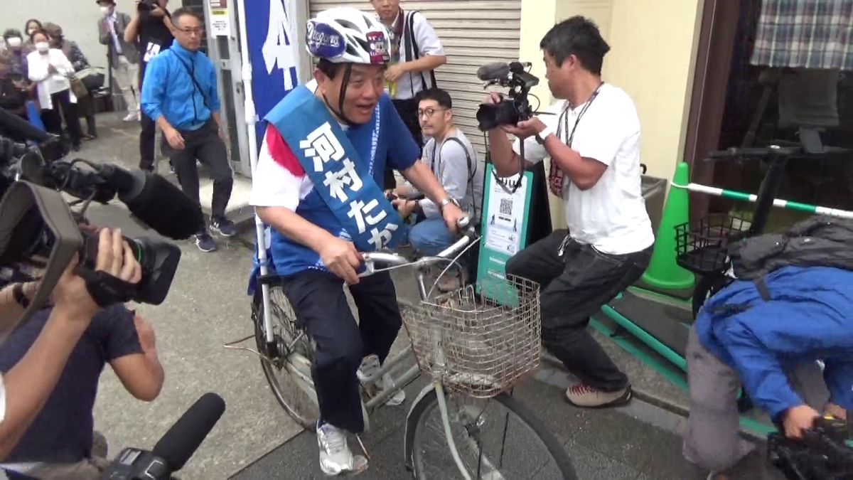
<instances>
[{"instance_id":1,"label":"black video camera held by crouching man in white t-shirt","mask_svg":"<svg viewBox=\"0 0 853 480\"><path fill-rule=\"evenodd\" d=\"M529 73L528 62L490 63L479 67L477 78L488 82L485 86L501 85L508 87L508 98L495 105L480 105L477 110L479 129L487 132L497 126L515 125L533 116L528 96L531 88L539 85L539 79Z\"/></svg>"}]
</instances>

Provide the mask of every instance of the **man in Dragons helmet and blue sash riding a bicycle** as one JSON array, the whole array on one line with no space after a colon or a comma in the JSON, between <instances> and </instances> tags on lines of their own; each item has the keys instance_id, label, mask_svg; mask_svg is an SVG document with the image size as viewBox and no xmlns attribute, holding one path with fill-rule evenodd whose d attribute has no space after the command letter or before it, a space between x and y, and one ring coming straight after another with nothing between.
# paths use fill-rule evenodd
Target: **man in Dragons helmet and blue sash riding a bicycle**
<instances>
[{"instance_id":1,"label":"man in Dragons helmet and blue sash riding a bicycle","mask_svg":"<svg viewBox=\"0 0 853 480\"><path fill-rule=\"evenodd\" d=\"M299 325L316 342L320 466L338 475L367 466L352 455L345 436L364 429L359 366L365 356L384 361L402 325L391 276L357 273L359 252L393 247L403 237L403 220L380 188L386 158L441 206L451 231L464 214L418 161L418 145L383 93L390 51L385 27L357 9L330 9L308 21L306 45L319 59L314 80L265 117L250 203L273 226L276 274ZM390 388L389 382L383 378L378 386Z\"/></svg>"}]
</instances>

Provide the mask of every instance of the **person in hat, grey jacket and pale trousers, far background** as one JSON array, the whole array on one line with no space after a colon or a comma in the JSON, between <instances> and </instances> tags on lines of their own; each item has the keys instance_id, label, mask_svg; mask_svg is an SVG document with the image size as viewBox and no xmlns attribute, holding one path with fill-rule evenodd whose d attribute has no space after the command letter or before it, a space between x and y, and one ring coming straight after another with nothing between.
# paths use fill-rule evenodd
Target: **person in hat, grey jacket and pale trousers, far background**
<instances>
[{"instance_id":1,"label":"person in hat, grey jacket and pale trousers, far background","mask_svg":"<svg viewBox=\"0 0 853 480\"><path fill-rule=\"evenodd\" d=\"M127 116L124 120L139 120L139 51L136 45L125 41L131 15L116 11L114 0L97 0L97 4L103 15L98 20L98 40L107 45L107 61L125 97Z\"/></svg>"}]
</instances>

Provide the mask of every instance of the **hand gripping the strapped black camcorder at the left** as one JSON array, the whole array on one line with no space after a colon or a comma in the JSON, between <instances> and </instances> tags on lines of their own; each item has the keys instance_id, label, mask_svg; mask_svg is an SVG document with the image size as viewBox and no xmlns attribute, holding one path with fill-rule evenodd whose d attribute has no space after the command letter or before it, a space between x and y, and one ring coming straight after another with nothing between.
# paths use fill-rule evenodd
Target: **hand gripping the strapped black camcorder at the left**
<instances>
[{"instance_id":1,"label":"hand gripping the strapped black camcorder at the left","mask_svg":"<svg viewBox=\"0 0 853 480\"><path fill-rule=\"evenodd\" d=\"M85 280L74 273L78 262L79 257L75 255L56 283L51 299L56 309L63 310L88 325L92 315L100 311L101 307L98 307L89 295ZM139 283L142 279L142 266L133 257L130 245L121 237L120 229L103 228L100 231L95 269L131 284Z\"/></svg>"}]
</instances>

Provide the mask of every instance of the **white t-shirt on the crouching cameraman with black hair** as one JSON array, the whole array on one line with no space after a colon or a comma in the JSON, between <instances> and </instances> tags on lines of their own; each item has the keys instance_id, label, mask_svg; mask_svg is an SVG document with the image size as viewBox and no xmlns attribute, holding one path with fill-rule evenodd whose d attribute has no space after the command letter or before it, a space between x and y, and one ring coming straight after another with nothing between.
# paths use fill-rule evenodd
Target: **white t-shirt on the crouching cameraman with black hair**
<instances>
[{"instance_id":1,"label":"white t-shirt on the crouching cameraman with black hair","mask_svg":"<svg viewBox=\"0 0 853 480\"><path fill-rule=\"evenodd\" d=\"M568 108L566 101L560 100L547 109L552 114L539 119L549 132L559 133L558 138L567 143L583 107ZM513 148L519 153L518 140ZM607 166L598 183L588 190L577 188L566 175L566 224L572 238L612 255L651 246L652 222L640 186L640 119L628 94L613 85L601 85L598 96L577 123L572 149ZM548 151L536 138L525 139L526 160L537 162L546 156Z\"/></svg>"}]
</instances>

